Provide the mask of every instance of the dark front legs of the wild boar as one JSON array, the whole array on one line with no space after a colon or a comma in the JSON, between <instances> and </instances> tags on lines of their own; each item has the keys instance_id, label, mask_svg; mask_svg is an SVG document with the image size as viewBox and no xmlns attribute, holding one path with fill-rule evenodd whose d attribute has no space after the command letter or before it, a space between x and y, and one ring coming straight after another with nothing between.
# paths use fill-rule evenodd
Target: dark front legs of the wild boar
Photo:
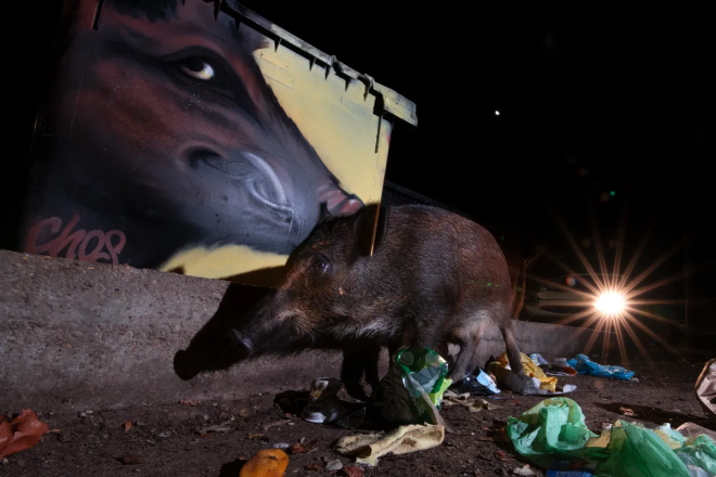
<instances>
[{"instance_id":1,"label":"dark front legs of the wild boar","mask_svg":"<svg viewBox=\"0 0 716 477\"><path fill-rule=\"evenodd\" d=\"M348 395L360 401L368 401L370 397L363 390L360 378L366 374L366 382L374 391L380 382L378 373L378 361L381 347L372 343L355 340L343 349L343 366L341 369L341 382L346 387Z\"/></svg>"}]
</instances>

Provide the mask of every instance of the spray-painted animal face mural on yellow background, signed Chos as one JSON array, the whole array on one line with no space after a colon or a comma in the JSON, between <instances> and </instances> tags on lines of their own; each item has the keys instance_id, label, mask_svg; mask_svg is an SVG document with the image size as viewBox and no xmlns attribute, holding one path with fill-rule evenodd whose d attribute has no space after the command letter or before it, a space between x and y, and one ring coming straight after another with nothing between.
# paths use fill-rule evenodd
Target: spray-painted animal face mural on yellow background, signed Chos
<instances>
[{"instance_id":1,"label":"spray-painted animal face mural on yellow background, signed Chos","mask_svg":"<svg viewBox=\"0 0 716 477\"><path fill-rule=\"evenodd\" d=\"M417 124L240 5L64 7L24 252L207 278L280 266L321 217L380 201L388 106Z\"/></svg>"}]
</instances>

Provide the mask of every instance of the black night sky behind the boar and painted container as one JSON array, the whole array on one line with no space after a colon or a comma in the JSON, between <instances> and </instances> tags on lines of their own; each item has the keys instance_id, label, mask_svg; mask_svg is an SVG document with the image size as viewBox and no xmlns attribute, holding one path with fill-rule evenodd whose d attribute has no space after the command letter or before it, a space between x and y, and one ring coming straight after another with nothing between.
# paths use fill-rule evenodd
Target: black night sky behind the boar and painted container
<instances>
[{"instance_id":1,"label":"black night sky behind the boar and painted container","mask_svg":"<svg viewBox=\"0 0 716 477\"><path fill-rule=\"evenodd\" d=\"M56 4L17 12L31 22L10 48L17 56L10 70L20 73L10 75L10 94L20 106L2 175L2 248L15 248L36 99L47 88L60 2L48 3ZM707 334L716 332L708 268L716 36L705 10L507 14L449 3L243 4L418 104L418 128L396 124L387 180L477 222L514 227L575 271L586 270L559 220L598 267L591 224L612 263L609 241L618 240L628 211L625 265L652 231L637 272L691 236L645 282L674 278L654 297L679 302L657 312L695 331L692 346L716 349L716 335ZM695 269L705 271L685 280ZM533 270L545 280L563 273L545 257Z\"/></svg>"}]
</instances>

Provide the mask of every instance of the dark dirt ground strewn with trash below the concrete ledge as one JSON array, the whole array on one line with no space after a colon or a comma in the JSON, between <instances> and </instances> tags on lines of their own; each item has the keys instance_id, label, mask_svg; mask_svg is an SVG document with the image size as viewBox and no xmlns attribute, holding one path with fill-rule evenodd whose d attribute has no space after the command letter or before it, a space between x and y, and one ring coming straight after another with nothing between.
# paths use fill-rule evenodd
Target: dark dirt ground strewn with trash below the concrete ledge
<instances>
[{"instance_id":1,"label":"dark dirt ground strewn with trash below the concrete ledge","mask_svg":"<svg viewBox=\"0 0 716 477\"><path fill-rule=\"evenodd\" d=\"M599 361L596 359L596 361ZM627 418L649 426L670 423L676 427L694 422L714 428L694 395L693 386L705 360L683 359L644 364L631 362L638 383L589 376L561 377L576 384L567 395L583 409L590 429L599 433L602 423ZM140 385L140 384L138 384ZM308 384L307 384L308 386ZM470 413L456 405L443 415L456 433L447 434L437 448L399 456L381 459L373 468L363 467L366 476L506 476L526 464L511 444L486 440L490 428L506 423L538 403L541 397L508 392L502 399L490 400L491 409ZM308 453L292 454L286 476L329 475L325 462L340 459L331 444L340 437L356 431L310 424L299 420L285 421L285 414L273 405L267 394L240 401L210 401L199 405L167 403L133 405L123 410L82 410L44 412L40 418L57 434L47 434L37 446L8 457L0 465L2 476L239 476L243 460L274 443L297 443L302 438L318 439L318 448ZM624 417L622 408L634 411L636 417ZM3 410L12 415L20 410ZM124 424L131 423L128 431ZM228 427L226 431L204 431L212 425ZM274 424L268 428L267 424ZM250 438L263 434L267 441ZM133 464L123 464L120 457L132 455ZM320 470L306 466L317 464ZM535 469L536 475L544 475Z\"/></svg>"}]
</instances>

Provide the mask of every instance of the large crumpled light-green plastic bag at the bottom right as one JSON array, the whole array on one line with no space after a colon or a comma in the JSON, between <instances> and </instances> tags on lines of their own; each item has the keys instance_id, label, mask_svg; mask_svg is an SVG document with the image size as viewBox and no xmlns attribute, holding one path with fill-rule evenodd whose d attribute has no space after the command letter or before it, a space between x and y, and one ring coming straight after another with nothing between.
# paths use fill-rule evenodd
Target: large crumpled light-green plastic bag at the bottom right
<instances>
[{"instance_id":1,"label":"large crumpled light-green plastic bag at the bottom right","mask_svg":"<svg viewBox=\"0 0 716 477\"><path fill-rule=\"evenodd\" d=\"M678 440L670 428L661 430ZM507 433L517 452L542 468L557 461L586 461L596 477L690 476L681 459L653 430L617 421L598 439L585 425L579 405L567 398L546 399L519 418L510 417ZM705 450L700 452L700 457L705 454Z\"/></svg>"}]
</instances>

